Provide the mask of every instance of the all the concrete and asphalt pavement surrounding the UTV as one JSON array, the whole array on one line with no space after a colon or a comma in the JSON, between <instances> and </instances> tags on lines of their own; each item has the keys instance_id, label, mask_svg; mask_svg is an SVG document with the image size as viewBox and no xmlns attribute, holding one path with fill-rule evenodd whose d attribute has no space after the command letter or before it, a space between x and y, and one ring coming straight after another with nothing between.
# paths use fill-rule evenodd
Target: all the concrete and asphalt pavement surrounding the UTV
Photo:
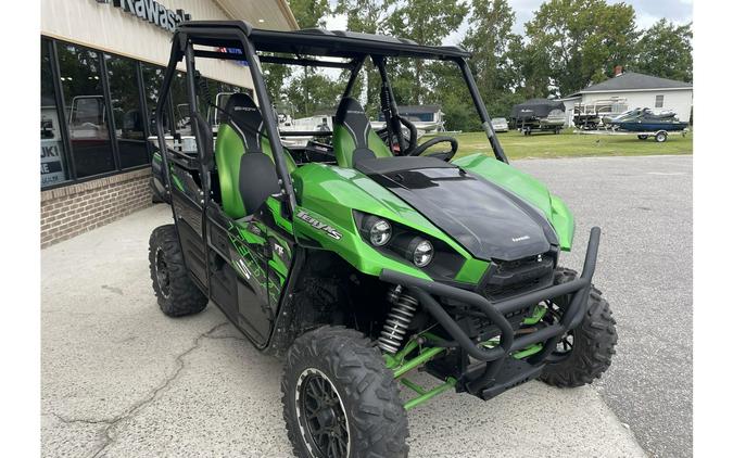
<instances>
[{"instance_id":1,"label":"all the concrete and asphalt pavement surrounding the UTV","mask_svg":"<svg viewBox=\"0 0 733 458\"><path fill-rule=\"evenodd\" d=\"M439 396L408 412L412 456L644 456L636 438L650 455L691 456L692 158L516 165L576 214L565 265L580 266L592 225L604 229L596 284L618 354L592 386ZM156 205L41 252L45 457L290 456L280 362L212 305L181 319L157 309L148 238L169 220Z\"/></svg>"}]
</instances>

